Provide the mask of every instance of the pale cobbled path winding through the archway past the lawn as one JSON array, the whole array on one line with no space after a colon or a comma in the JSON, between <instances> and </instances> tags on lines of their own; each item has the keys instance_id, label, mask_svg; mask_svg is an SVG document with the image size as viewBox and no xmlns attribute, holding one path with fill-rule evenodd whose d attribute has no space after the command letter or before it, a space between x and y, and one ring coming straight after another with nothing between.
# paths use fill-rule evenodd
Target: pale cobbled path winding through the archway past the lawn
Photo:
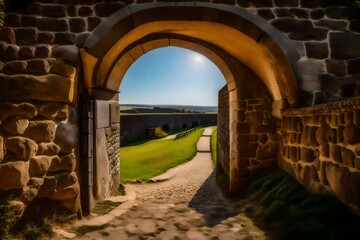
<instances>
[{"instance_id":1,"label":"pale cobbled path winding through the archway past the lawn","mask_svg":"<svg viewBox=\"0 0 360 240\"><path fill-rule=\"evenodd\" d=\"M265 239L241 207L216 189L210 138L206 128L196 156L160 177L168 180L127 184L136 193L133 207L80 239Z\"/></svg>"}]
</instances>

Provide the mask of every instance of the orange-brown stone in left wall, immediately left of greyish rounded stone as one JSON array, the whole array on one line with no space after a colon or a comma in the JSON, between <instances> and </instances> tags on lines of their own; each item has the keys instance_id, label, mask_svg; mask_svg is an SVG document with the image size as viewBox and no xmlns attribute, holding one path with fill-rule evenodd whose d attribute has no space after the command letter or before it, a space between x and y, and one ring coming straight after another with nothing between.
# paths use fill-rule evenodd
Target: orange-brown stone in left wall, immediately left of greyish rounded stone
<instances>
[{"instance_id":1,"label":"orange-brown stone in left wall, immediately left of greyish rounded stone","mask_svg":"<svg viewBox=\"0 0 360 240\"><path fill-rule=\"evenodd\" d=\"M24 136L36 142L52 142L55 138L56 124L53 121L31 121Z\"/></svg>"}]
</instances>

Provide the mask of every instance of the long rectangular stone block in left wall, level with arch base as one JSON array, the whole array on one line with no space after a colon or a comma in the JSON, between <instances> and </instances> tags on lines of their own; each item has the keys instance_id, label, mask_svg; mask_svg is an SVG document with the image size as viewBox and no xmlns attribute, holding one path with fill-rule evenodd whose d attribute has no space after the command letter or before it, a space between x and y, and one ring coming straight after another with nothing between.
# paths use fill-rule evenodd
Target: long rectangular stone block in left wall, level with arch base
<instances>
[{"instance_id":1,"label":"long rectangular stone block in left wall, level with arch base","mask_svg":"<svg viewBox=\"0 0 360 240\"><path fill-rule=\"evenodd\" d=\"M0 100L72 102L74 82L59 75L1 76ZM49 94L55 93L56 94Z\"/></svg>"}]
</instances>

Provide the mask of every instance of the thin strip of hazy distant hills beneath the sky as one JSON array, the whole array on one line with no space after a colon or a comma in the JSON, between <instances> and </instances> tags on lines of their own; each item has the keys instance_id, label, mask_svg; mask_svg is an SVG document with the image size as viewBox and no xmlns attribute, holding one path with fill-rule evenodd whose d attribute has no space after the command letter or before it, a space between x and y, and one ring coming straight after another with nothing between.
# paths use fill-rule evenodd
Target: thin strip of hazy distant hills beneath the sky
<instances>
[{"instance_id":1,"label":"thin strip of hazy distant hills beneath the sky","mask_svg":"<svg viewBox=\"0 0 360 240\"><path fill-rule=\"evenodd\" d=\"M191 105L148 105L148 104L120 104L120 111L122 110L131 110L134 108L145 108L145 109L154 109L154 108L170 108L170 109L179 109L186 111L196 111L202 113L217 113L217 106L191 106Z\"/></svg>"}]
</instances>

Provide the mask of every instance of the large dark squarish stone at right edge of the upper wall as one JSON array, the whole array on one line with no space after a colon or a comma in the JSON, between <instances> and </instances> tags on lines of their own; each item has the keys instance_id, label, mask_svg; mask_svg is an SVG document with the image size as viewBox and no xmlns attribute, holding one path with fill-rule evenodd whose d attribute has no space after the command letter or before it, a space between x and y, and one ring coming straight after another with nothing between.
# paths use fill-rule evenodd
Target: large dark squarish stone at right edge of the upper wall
<instances>
[{"instance_id":1,"label":"large dark squarish stone at right edge of the upper wall","mask_svg":"<svg viewBox=\"0 0 360 240\"><path fill-rule=\"evenodd\" d=\"M360 56L360 35L332 32L329 36L332 58L351 59Z\"/></svg>"}]
</instances>

